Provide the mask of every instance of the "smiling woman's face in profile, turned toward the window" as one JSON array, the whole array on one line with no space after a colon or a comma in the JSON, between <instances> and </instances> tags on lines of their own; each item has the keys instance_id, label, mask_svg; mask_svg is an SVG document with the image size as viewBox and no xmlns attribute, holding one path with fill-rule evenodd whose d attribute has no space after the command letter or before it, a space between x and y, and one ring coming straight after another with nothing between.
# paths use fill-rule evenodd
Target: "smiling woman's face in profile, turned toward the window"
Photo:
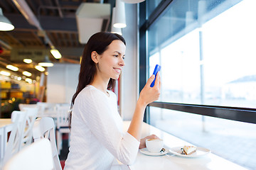
<instances>
[{"instance_id":1,"label":"smiling woman's face in profile, turned toward the window","mask_svg":"<svg viewBox=\"0 0 256 170\"><path fill-rule=\"evenodd\" d=\"M107 50L99 55L97 72L104 79L118 79L124 67L126 46L121 40L113 40Z\"/></svg>"}]
</instances>

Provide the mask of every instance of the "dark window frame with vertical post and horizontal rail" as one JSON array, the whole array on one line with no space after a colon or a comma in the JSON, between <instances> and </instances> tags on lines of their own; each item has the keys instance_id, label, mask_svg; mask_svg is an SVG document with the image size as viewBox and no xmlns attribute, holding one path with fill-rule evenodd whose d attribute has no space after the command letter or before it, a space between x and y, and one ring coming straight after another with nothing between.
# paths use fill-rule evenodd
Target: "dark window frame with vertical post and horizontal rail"
<instances>
[{"instance_id":1,"label":"dark window frame with vertical post and horizontal rail","mask_svg":"<svg viewBox=\"0 0 256 170\"><path fill-rule=\"evenodd\" d=\"M146 84L146 78L149 74L149 56L147 56L148 52L146 43L147 30L152 23L161 17L164 10L171 4L172 1L173 0L162 0L148 19L146 19L146 1L139 4L139 91L141 91L144 84ZM173 111L195 113L198 115L207 115L215 118L256 124L256 108L238 108L167 102L153 102L147 106L144 114L144 122L149 124L150 113L148 107L165 108Z\"/></svg>"}]
</instances>

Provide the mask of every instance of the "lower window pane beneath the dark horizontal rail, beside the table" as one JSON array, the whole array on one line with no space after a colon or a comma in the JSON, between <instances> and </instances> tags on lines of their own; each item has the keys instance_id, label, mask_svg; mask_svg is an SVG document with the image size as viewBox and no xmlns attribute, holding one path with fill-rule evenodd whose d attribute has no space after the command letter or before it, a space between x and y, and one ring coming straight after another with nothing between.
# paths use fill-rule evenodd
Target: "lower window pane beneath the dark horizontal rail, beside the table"
<instances>
[{"instance_id":1,"label":"lower window pane beneath the dark horizontal rail, beside the table","mask_svg":"<svg viewBox=\"0 0 256 170\"><path fill-rule=\"evenodd\" d=\"M150 107L150 124L235 164L256 169L255 124L208 116L203 119L202 115L154 107Z\"/></svg>"}]
</instances>

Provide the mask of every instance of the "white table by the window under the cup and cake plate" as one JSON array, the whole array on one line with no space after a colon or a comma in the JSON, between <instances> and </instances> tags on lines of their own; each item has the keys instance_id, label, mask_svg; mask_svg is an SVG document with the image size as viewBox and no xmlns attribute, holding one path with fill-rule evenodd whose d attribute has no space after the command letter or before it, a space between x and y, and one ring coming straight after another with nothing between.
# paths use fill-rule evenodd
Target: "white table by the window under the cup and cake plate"
<instances>
[{"instance_id":1,"label":"white table by the window under the cup and cake plate","mask_svg":"<svg viewBox=\"0 0 256 170\"><path fill-rule=\"evenodd\" d=\"M124 122L124 129L129 127L129 121ZM163 132L151 125L143 123L142 137L155 134L164 140L164 147L169 149L171 147L182 147L183 145L191 145L190 143L179 139L173 135ZM199 146L200 147L200 146ZM168 153L164 156L151 157L141 152L138 152L137 159L134 164L129 166L131 170L161 170L161 169L189 169L189 170L203 170L203 169L235 169L245 170L242 166L234 164L233 162L218 157L217 155L210 153L203 157L198 158L186 158L178 157L174 154Z\"/></svg>"}]
</instances>

